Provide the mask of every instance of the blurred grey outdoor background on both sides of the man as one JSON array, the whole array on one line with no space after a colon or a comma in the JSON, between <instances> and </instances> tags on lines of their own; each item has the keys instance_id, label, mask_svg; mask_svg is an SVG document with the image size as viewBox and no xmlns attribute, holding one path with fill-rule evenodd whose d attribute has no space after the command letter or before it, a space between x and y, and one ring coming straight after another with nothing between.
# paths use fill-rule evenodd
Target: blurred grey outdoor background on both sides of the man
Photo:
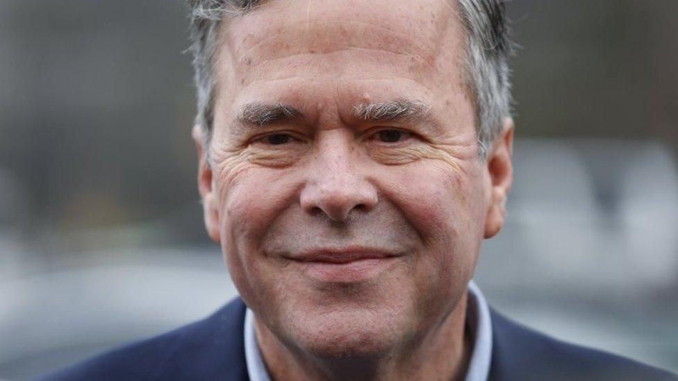
<instances>
[{"instance_id":1,"label":"blurred grey outdoor background on both sides of the man","mask_svg":"<svg viewBox=\"0 0 678 381\"><path fill-rule=\"evenodd\" d=\"M515 185L476 280L678 371L678 1L514 0ZM195 185L179 0L0 2L0 378L235 295Z\"/></svg>"}]
</instances>

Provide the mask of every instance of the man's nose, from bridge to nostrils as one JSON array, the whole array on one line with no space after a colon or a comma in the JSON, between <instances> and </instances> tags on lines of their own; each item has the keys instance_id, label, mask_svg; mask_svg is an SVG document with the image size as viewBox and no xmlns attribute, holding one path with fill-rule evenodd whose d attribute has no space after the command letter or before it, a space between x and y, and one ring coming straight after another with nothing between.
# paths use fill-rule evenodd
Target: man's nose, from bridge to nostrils
<instances>
[{"instance_id":1,"label":"man's nose, from bridge to nostrils","mask_svg":"<svg viewBox=\"0 0 678 381\"><path fill-rule=\"evenodd\" d=\"M345 222L352 213L369 212L377 206L377 189L361 173L364 165L345 139L326 139L318 146L307 168L301 189L301 209L308 214L325 214L332 221Z\"/></svg>"}]
</instances>

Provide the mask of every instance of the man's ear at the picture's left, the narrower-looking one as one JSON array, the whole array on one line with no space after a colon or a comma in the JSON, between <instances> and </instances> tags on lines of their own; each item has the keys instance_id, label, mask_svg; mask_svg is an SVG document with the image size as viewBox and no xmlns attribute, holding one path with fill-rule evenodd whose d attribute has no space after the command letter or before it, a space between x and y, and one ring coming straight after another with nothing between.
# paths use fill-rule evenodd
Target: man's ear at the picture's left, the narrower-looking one
<instances>
[{"instance_id":1,"label":"man's ear at the picture's left, the narrower-looking one","mask_svg":"<svg viewBox=\"0 0 678 381\"><path fill-rule=\"evenodd\" d=\"M198 192L202 201L205 228L207 235L218 244L220 242L219 208L217 208L218 200L213 188L212 167L207 160L209 147L205 146L204 135L200 126L193 126L191 135L198 151Z\"/></svg>"}]
</instances>

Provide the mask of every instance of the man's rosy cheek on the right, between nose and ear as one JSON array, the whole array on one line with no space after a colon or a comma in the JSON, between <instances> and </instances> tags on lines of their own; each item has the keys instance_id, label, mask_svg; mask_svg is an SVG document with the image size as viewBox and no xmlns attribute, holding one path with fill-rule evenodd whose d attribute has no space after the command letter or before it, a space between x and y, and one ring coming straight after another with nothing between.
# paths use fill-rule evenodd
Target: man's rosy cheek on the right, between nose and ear
<instances>
[{"instance_id":1,"label":"man's rosy cheek on the right, between nose and ear","mask_svg":"<svg viewBox=\"0 0 678 381\"><path fill-rule=\"evenodd\" d=\"M391 167L385 196L419 233L431 265L474 261L483 237L486 203L481 167L421 160Z\"/></svg>"}]
</instances>

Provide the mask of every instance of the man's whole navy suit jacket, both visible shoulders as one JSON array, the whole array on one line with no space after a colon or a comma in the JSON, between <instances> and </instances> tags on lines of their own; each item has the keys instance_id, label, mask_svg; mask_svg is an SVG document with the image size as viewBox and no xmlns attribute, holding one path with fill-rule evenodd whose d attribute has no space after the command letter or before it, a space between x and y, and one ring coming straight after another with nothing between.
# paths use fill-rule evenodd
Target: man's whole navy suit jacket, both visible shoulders
<instances>
[{"instance_id":1,"label":"man's whole navy suit jacket, both visible shoulders","mask_svg":"<svg viewBox=\"0 0 678 381\"><path fill-rule=\"evenodd\" d=\"M659 369L552 339L491 311L489 380L678 380ZM236 298L208 318L41 380L249 380Z\"/></svg>"}]
</instances>

